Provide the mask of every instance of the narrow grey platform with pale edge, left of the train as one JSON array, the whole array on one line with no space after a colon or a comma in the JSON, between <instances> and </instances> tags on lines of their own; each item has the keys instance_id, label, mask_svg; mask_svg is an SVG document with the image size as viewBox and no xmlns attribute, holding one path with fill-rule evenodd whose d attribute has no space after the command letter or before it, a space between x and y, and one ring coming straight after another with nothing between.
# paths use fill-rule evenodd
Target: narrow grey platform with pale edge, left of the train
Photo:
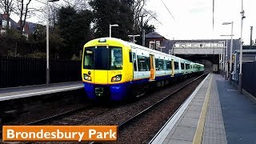
<instances>
[{"instance_id":1,"label":"narrow grey platform with pale edge, left of the train","mask_svg":"<svg viewBox=\"0 0 256 144\"><path fill-rule=\"evenodd\" d=\"M0 89L0 102L16 98L26 98L42 94L53 94L68 90L78 90L82 87L82 82L62 82L50 84L49 86L38 85L3 88Z\"/></svg>"}]
</instances>

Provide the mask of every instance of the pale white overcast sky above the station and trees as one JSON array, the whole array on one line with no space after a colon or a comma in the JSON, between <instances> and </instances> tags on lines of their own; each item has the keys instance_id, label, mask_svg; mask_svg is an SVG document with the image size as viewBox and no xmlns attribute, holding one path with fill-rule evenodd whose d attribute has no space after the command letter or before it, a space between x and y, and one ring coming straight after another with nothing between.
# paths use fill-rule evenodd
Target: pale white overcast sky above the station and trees
<instances>
[{"instance_id":1,"label":"pale white overcast sky above the station and trees","mask_svg":"<svg viewBox=\"0 0 256 144\"><path fill-rule=\"evenodd\" d=\"M62 1L62 0L60 0ZM40 7L44 4L32 1L30 6ZM166 7L170 10L170 15ZM243 21L242 39L245 44L250 43L250 26L254 26L253 40L256 36L256 1L243 2L246 18ZM231 25L222 25L222 22L234 22L234 38L241 37L242 0L214 0L214 28L213 28L213 0L146 0L146 9L157 14L154 24L158 34L168 39L226 39L221 34L230 35ZM18 22L18 16L11 15ZM38 22L35 16L29 22ZM162 24L161 24L161 23Z\"/></svg>"}]
</instances>

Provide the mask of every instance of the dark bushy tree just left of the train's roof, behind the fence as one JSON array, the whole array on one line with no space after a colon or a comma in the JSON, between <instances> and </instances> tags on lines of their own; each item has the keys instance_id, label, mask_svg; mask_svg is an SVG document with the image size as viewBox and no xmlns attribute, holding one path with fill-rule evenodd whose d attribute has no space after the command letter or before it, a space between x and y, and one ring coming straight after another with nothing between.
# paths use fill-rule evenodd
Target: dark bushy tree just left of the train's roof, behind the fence
<instances>
[{"instance_id":1,"label":"dark bushy tree just left of the train's roof, behind the fence","mask_svg":"<svg viewBox=\"0 0 256 144\"><path fill-rule=\"evenodd\" d=\"M82 46L92 38L90 24L93 15L90 10L76 11L74 7L62 7L58 12L58 26L60 36L64 39L65 46L61 50L65 58L79 54Z\"/></svg>"}]
</instances>

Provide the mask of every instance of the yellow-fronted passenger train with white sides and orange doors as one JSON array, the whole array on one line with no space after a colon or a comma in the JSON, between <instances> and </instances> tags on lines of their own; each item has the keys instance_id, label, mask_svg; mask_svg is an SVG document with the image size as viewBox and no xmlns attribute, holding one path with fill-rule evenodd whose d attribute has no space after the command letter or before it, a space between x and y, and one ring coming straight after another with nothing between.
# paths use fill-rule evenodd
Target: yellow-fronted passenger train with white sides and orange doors
<instances>
[{"instance_id":1,"label":"yellow-fronted passenger train with white sides and orange doors","mask_svg":"<svg viewBox=\"0 0 256 144\"><path fill-rule=\"evenodd\" d=\"M83 46L86 97L119 102L204 71L204 65L118 38L96 38Z\"/></svg>"}]
</instances>

